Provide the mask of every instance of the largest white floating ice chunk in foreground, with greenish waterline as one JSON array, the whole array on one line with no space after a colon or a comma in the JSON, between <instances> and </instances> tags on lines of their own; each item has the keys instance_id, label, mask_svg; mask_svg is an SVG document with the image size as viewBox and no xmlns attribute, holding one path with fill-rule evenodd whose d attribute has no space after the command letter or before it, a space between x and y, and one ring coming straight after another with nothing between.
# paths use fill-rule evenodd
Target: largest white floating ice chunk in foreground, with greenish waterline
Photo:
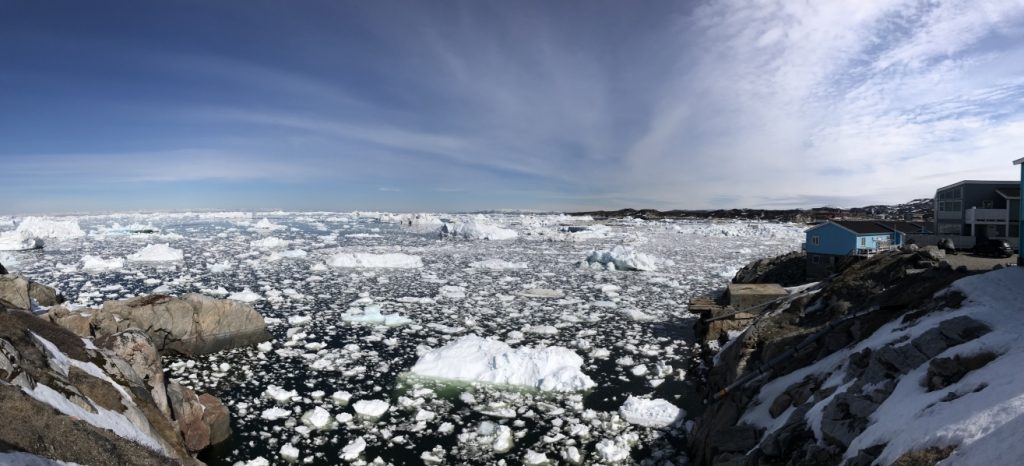
<instances>
[{"instance_id":1,"label":"largest white floating ice chunk in foreground, with greenish waterline","mask_svg":"<svg viewBox=\"0 0 1024 466\"><path fill-rule=\"evenodd\" d=\"M519 347L467 335L420 356L413 374L442 380L518 385L550 391L593 387L583 373L583 357L560 346Z\"/></svg>"}]
</instances>

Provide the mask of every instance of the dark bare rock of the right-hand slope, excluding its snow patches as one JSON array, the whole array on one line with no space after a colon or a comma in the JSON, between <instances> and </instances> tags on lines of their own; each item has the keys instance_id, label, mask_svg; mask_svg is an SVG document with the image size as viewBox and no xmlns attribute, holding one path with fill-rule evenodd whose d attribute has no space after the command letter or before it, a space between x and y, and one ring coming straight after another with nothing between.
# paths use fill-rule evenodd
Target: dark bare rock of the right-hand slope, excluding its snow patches
<instances>
[{"instance_id":1,"label":"dark bare rock of the right-hand slope, excluding its snow patches","mask_svg":"<svg viewBox=\"0 0 1024 466\"><path fill-rule=\"evenodd\" d=\"M938 292L963 277L936 263L931 250L880 254L849 265L815 292L755 317L723 347L708 372L707 396L718 399L695 420L688 437L694 464L840 464L901 377L929 367L929 377L922 383L938 387L991 361L984 355L936 358L989 331L985 324L961 315L913 338L852 353L841 366L845 372L835 375L843 381L841 390L836 384L822 388L824 377L811 373L777 395L757 400L765 384L857 344L894 320L910 325L932 310L958 306L963 295ZM779 419L770 432L741 421L759 406ZM812 428L807 418L815 406L821 410L820 425ZM871 464L881 447L854 452L856 457L847 464Z\"/></svg>"}]
</instances>

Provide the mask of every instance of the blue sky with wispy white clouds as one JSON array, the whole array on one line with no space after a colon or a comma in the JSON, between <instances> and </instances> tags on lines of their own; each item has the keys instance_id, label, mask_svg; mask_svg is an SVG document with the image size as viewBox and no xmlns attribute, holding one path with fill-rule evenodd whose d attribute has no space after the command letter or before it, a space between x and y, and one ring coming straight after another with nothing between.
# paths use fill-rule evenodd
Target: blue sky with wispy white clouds
<instances>
[{"instance_id":1,"label":"blue sky with wispy white clouds","mask_svg":"<svg viewBox=\"0 0 1024 466\"><path fill-rule=\"evenodd\" d=\"M0 213L895 204L1024 157L1024 0L0 0Z\"/></svg>"}]
</instances>

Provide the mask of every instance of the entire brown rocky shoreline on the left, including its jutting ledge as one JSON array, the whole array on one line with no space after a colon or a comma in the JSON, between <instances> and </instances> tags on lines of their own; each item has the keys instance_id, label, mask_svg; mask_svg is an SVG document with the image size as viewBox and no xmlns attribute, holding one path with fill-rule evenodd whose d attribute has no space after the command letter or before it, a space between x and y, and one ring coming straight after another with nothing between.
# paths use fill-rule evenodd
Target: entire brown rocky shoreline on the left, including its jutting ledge
<instances>
[{"instance_id":1,"label":"entire brown rocky shoreline on the left, including its jutting ledge","mask_svg":"<svg viewBox=\"0 0 1024 466\"><path fill-rule=\"evenodd\" d=\"M166 380L161 355L269 339L251 306L148 295L78 309L54 289L0 270L0 412L8 421L0 423L0 456L195 465L229 438L227 407Z\"/></svg>"}]
</instances>

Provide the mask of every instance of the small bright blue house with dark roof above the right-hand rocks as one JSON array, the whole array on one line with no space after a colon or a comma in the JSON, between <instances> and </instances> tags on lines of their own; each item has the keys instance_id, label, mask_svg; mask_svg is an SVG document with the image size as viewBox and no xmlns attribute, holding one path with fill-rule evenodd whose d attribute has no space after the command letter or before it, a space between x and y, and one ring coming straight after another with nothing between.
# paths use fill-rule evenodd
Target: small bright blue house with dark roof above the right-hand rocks
<instances>
[{"instance_id":1,"label":"small bright blue house with dark roof above the right-hand rocks","mask_svg":"<svg viewBox=\"0 0 1024 466\"><path fill-rule=\"evenodd\" d=\"M927 234L929 229L906 221L828 220L807 229L807 277L827 277L843 257L868 257L896 249L907 235Z\"/></svg>"}]
</instances>

